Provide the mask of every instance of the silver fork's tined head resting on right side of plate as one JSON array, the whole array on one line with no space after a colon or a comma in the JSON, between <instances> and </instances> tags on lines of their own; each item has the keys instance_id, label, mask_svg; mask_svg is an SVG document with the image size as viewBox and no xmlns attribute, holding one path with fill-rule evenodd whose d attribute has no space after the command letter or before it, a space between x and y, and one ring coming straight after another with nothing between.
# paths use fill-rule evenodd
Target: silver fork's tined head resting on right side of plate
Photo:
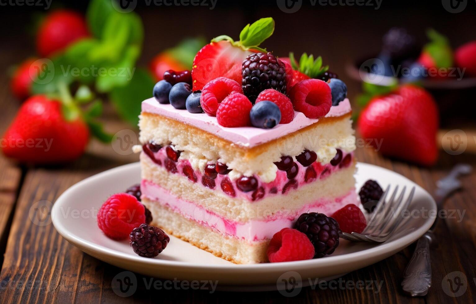
<instances>
[{"instance_id":1,"label":"silver fork's tined head resting on right side of plate","mask_svg":"<svg viewBox=\"0 0 476 304\"><path fill-rule=\"evenodd\" d=\"M401 217L400 214L403 210L408 208L413 199L413 195L415 194L415 187L413 187L410 191L410 195L404 202L406 188L406 186L403 187L402 192L398 198L395 199L398 193L398 186L395 187L392 196L390 196L390 199L386 202L385 199L390 191L390 185L387 186L387 189L382 197L380 197L372 216L367 221L367 227L364 231L362 231L362 233L352 232L351 234L342 232L339 234L339 237L352 242L382 243L387 241L403 221L403 217ZM372 223L376 223L376 225L372 225Z\"/></svg>"}]
</instances>

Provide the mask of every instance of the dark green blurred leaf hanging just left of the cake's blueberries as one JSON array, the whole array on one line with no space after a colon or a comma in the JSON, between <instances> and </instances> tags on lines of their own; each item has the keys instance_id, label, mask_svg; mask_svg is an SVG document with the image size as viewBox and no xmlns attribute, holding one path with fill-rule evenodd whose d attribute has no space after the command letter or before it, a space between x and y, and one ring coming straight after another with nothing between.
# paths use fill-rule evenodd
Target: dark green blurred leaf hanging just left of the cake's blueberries
<instances>
[{"instance_id":1,"label":"dark green blurred leaf hanging just left of the cake's blueberries","mask_svg":"<svg viewBox=\"0 0 476 304\"><path fill-rule=\"evenodd\" d=\"M119 116L137 126L141 102L151 97L154 84L155 82L148 71L136 69L134 76L126 86L113 88L109 97Z\"/></svg>"}]
</instances>

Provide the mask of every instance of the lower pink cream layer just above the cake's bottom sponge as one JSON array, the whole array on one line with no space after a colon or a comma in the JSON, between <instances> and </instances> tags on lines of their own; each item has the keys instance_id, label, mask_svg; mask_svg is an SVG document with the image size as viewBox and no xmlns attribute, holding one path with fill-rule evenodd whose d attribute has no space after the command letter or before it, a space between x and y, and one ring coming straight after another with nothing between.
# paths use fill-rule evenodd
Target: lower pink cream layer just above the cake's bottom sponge
<instances>
[{"instance_id":1,"label":"lower pink cream layer just above the cake's bottom sponge","mask_svg":"<svg viewBox=\"0 0 476 304\"><path fill-rule=\"evenodd\" d=\"M248 243L270 239L282 228L292 227L296 218L304 212L332 215L348 204L358 204L355 189L351 189L342 197L319 198L314 203L307 204L299 210L288 210L288 212L282 212L278 216L255 218L246 223L239 223L219 216L193 202L178 198L168 190L147 180L142 180L141 191L143 197L156 201L157 204L167 206L185 218L194 220L222 235L236 237Z\"/></svg>"}]
</instances>

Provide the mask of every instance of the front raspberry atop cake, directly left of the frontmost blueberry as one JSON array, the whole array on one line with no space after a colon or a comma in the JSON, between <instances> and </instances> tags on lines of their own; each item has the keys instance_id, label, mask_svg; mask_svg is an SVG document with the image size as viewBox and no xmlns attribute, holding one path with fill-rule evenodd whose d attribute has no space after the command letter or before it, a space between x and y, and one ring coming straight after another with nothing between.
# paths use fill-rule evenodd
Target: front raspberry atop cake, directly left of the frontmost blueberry
<instances>
[{"instance_id":1,"label":"front raspberry atop cake, directly left of the frontmost blueberry","mask_svg":"<svg viewBox=\"0 0 476 304\"><path fill-rule=\"evenodd\" d=\"M217 110L217 121L223 127L250 125L249 111L253 104L241 93L234 93L223 100Z\"/></svg>"}]
</instances>

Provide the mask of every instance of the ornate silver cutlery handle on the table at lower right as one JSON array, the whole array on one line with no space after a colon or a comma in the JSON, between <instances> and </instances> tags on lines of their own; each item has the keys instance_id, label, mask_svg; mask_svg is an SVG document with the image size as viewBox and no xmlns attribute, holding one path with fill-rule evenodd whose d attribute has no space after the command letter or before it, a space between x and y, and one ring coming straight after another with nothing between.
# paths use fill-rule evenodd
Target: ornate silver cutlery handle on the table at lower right
<instances>
[{"instance_id":1,"label":"ornate silver cutlery handle on the table at lower right","mask_svg":"<svg viewBox=\"0 0 476 304\"><path fill-rule=\"evenodd\" d=\"M403 274L403 290L411 296L426 295L431 286L429 233L418 239L415 252Z\"/></svg>"}]
</instances>

